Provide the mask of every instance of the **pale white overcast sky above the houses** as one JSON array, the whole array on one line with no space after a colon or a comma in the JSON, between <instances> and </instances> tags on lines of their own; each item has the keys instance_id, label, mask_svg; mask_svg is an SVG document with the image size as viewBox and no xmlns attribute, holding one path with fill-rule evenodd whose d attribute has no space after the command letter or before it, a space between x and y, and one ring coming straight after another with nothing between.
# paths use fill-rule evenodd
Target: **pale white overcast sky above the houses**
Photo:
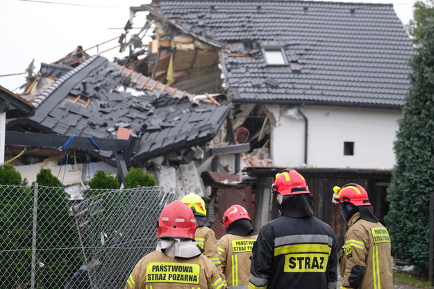
<instances>
[{"instance_id":1,"label":"pale white overcast sky above the houses","mask_svg":"<svg viewBox=\"0 0 434 289\"><path fill-rule=\"evenodd\" d=\"M412 17L416 0L340 0L335 2L393 3L403 24ZM34 59L35 72L40 63L54 61L74 51L95 47L119 37L129 18L129 7L150 0L0 0L0 76L25 72ZM140 19L142 18L142 19ZM135 17L133 28L141 28L143 17ZM138 32L138 31L137 31ZM120 54L117 40L87 51L101 53L109 60ZM24 74L0 77L0 85L15 93L25 82Z\"/></svg>"}]
</instances>

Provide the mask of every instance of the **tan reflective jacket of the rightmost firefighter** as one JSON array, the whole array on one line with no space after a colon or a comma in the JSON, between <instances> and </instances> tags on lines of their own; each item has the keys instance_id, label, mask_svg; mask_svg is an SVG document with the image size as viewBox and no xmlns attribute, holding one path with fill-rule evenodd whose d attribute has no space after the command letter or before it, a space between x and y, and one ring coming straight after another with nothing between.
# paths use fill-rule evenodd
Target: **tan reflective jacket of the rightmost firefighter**
<instances>
[{"instance_id":1,"label":"tan reflective jacket of the rightmost firefighter","mask_svg":"<svg viewBox=\"0 0 434 289\"><path fill-rule=\"evenodd\" d=\"M348 222L344 246L339 254L340 288L393 288L392 256L387 229L353 215Z\"/></svg>"}]
</instances>

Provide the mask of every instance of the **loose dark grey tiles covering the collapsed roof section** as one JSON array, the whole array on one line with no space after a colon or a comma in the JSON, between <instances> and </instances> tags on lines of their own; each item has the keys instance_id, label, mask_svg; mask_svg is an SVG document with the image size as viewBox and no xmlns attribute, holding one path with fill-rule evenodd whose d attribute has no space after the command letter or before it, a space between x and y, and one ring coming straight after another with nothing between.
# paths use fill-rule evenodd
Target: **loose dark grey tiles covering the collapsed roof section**
<instances>
[{"instance_id":1,"label":"loose dark grey tiles covering the collapsed roof section","mask_svg":"<svg viewBox=\"0 0 434 289\"><path fill-rule=\"evenodd\" d=\"M58 74L62 69L52 71ZM197 106L190 103L187 97L178 99L166 92L151 92L146 88L139 97L133 97L129 92L117 91L123 79L120 66L108 63L108 60L101 56L92 56L82 65L65 71L67 74L63 74L61 79L35 100L37 107L31 120L45 126L46 131L51 130L62 135L90 135L93 138L115 138L118 127L128 127L139 136L139 149L133 156L137 162L211 140L230 110L228 104ZM67 96L72 95L72 90L74 95L83 92L83 79L87 83L86 91L97 97L91 97L87 104L83 102L87 99L85 97L73 103ZM94 91L97 87L101 92L99 95ZM99 98L104 95L110 97ZM147 109L143 109L144 106ZM220 115L219 122L215 119L216 111ZM203 131L207 139L193 137L198 134L199 129L188 123L189 117L200 118L202 127L209 124L206 126L209 130ZM147 129L144 129L145 127ZM190 130L194 133L190 133ZM107 154L106 157L112 155L111 152L104 154Z\"/></svg>"}]
</instances>

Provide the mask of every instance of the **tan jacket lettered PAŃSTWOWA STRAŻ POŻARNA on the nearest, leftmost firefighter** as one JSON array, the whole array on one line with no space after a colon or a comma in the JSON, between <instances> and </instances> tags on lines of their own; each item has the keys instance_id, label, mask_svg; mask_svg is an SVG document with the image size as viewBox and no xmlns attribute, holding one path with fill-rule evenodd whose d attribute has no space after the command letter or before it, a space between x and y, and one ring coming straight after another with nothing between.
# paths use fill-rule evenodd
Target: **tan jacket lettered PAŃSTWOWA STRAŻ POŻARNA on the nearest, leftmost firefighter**
<instances>
[{"instance_id":1,"label":"tan jacket lettered PA\u0143STWOWA STRA\u017b PO\u017bARNA on the nearest, leftmost firefighter","mask_svg":"<svg viewBox=\"0 0 434 289\"><path fill-rule=\"evenodd\" d=\"M217 268L203 254L172 258L153 251L135 265L125 289L224 289Z\"/></svg>"}]
</instances>

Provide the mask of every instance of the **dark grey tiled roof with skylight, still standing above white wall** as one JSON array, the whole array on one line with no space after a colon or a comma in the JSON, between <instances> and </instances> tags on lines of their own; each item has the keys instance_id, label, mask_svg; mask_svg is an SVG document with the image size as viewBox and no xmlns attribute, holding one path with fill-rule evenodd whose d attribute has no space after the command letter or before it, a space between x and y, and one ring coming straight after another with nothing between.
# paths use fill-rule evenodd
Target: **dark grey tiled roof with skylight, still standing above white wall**
<instances>
[{"instance_id":1,"label":"dark grey tiled roof with skylight, still standing above white wall","mask_svg":"<svg viewBox=\"0 0 434 289\"><path fill-rule=\"evenodd\" d=\"M149 17L160 13L226 43L223 71L234 102L404 104L413 51L392 4L160 0L147 8ZM283 63L267 64L266 51L283 51Z\"/></svg>"}]
</instances>

